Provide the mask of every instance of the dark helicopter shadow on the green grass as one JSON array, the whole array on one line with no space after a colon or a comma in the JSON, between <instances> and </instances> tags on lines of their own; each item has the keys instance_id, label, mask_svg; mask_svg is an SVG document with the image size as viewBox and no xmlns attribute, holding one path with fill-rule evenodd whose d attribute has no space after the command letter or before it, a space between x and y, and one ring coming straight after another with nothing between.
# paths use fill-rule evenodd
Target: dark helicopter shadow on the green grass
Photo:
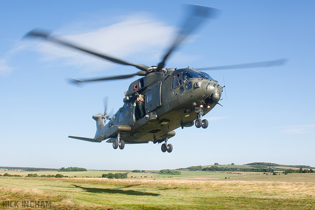
<instances>
[{"instance_id":1,"label":"dark helicopter shadow on the green grass","mask_svg":"<svg viewBox=\"0 0 315 210\"><path fill-rule=\"evenodd\" d=\"M113 189L113 188L89 188L89 187L82 187L80 185L71 184L72 186L81 188L86 192L94 192L94 193L110 193L110 194L123 194L123 195L131 195L131 196L160 196L161 194L158 193L150 193L150 192L141 192L136 190L120 190L120 189Z\"/></svg>"}]
</instances>

